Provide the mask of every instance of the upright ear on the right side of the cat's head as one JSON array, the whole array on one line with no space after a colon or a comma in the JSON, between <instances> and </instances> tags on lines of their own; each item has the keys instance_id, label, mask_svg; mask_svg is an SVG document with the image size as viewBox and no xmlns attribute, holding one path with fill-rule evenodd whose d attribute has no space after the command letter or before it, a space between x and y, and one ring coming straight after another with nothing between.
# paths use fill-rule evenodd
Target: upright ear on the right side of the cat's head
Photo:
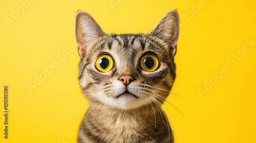
<instances>
[{"instance_id":1,"label":"upright ear on the right side of the cat's head","mask_svg":"<svg viewBox=\"0 0 256 143\"><path fill-rule=\"evenodd\" d=\"M179 37L179 15L176 10L167 12L148 35L163 41L172 56L176 54Z\"/></svg>"}]
</instances>

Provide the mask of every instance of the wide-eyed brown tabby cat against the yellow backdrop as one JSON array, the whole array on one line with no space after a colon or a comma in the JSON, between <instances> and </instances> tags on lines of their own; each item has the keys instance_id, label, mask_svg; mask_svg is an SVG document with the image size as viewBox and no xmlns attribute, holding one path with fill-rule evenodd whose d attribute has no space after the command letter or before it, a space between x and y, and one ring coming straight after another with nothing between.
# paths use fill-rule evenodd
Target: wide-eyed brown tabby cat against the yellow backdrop
<instances>
[{"instance_id":1,"label":"wide-eyed brown tabby cat against the yellow backdrop","mask_svg":"<svg viewBox=\"0 0 256 143\"><path fill-rule=\"evenodd\" d=\"M176 77L179 15L148 34L105 34L87 12L75 17L79 84L90 106L78 142L173 142L161 109Z\"/></svg>"}]
</instances>

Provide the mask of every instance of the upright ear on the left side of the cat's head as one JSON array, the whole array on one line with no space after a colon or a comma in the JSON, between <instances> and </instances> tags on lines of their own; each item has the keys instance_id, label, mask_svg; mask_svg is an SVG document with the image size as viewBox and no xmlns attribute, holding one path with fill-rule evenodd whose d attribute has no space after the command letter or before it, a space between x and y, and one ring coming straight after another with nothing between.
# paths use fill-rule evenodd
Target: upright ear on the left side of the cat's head
<instances>
[{"instance_id":1,"label":"upright ear on the left side of the cat's head","mask_svg":"<svg viewBox=\"0 0 256 143\"><path fill-rule=\"evenodd\" d=\"M78 11L75 18L75 36L79 55L87 53L88 46L105 33L93 17L84 11Z\"/></svg>"}]
</instances>

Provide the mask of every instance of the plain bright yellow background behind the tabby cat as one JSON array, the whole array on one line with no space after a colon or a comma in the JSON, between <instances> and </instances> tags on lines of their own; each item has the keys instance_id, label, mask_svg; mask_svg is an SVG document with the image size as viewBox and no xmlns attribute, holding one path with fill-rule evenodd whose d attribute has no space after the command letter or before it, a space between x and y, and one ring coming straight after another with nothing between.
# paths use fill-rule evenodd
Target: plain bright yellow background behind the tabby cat
<instances>
[{"instance_id":1,"label":"plain bright yellow background behind the tabby cat","mask_svg":"<svg viewBox=\"0 0 256 143\"><path fill-rule=\"evenodd\" d=\"M168 101L179 111L164 105L176 143L255 142L255 5L249 0L1 1L0 142L76 142L88 108L77 80L77 10L90 13L110 34L150 32L176 8L181 27L172 93L178 96L170 94ZM4 85L10 90L9 139L3 134Z\"/></svg>"}]
</instances>

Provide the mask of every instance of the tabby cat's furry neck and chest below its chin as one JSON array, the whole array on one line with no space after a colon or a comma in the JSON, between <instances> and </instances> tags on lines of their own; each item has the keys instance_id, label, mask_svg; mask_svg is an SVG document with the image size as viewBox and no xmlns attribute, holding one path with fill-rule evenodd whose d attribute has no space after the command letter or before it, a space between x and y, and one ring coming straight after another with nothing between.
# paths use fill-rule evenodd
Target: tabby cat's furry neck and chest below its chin
<instances>
[{"instance_id":1,"label":"tabby cat's furry neck and chest below its chin","mask_svg":"<svg viewBox=\"0 0 256 143\"><path fill-rule=\"evenodd\" d=\"M148 139L144 137L169 142L172 138L165 114L153 104L123 110L95 103L90 105L81 125L83 134L93 135L100 142L143 142Z\"/></svg>"}]
</instances>

